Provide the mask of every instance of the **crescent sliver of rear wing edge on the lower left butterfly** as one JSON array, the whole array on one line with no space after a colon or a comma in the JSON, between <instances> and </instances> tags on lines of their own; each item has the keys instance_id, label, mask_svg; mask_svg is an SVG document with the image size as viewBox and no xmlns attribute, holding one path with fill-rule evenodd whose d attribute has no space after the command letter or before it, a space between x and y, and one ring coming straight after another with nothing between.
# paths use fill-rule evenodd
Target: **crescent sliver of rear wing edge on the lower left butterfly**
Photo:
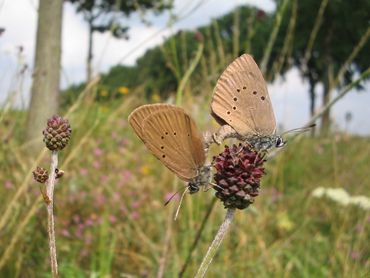
<instances>
[{"instance_id":1,"label":"crescent sliver of rear wing edge on the lower left butterfly","mask_svg":"<svg viewBox=\"0 0 370 278\"><path fill-rule=\"evenodd\" d=\"M142 126L146 117L149 115L158 112L173 108L173 105L156 103L156 104L146 104L137 107L131 114L128 116L128 121L131 127L134 129L136 135L144 142Z\"/></svg>"}]
</instances>

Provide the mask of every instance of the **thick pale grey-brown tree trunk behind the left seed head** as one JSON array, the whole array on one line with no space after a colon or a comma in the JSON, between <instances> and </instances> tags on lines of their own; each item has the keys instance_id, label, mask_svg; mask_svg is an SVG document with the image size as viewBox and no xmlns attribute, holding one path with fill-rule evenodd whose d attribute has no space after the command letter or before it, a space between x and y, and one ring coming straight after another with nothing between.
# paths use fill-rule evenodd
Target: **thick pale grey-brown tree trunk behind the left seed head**
<instances>
[{"instance_id":1,"label":"thick pale grey-brown tree trunk behind the left seed head","mask_svg":"<svg viewBox=\"0 0 370 278\"><path fill-rule=\"evenodd\" d=\"M40 0L31 102L26 140L31 152L42 147L46 120L58 110L63 1Z\"/></svg>"}]
</instances>

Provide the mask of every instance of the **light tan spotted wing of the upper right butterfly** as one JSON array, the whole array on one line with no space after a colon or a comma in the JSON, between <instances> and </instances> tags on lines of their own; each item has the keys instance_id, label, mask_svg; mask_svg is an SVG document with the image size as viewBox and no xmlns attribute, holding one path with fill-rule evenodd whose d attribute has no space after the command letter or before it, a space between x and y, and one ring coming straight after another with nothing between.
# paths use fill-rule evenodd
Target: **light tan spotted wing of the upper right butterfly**
<instances>
[{"instance_id":1,"label":"light tan spotted wing of the upper right butterfly","mask_svg":"<svg viewBox=\"0 0 370 278\"><path fill-rule=\"evenodd\" d=\"M275 132L276 121L266 82L252 56L244 54L222 73L214 89L212 115L241 135Z\"/></svg>"}]
</instances>

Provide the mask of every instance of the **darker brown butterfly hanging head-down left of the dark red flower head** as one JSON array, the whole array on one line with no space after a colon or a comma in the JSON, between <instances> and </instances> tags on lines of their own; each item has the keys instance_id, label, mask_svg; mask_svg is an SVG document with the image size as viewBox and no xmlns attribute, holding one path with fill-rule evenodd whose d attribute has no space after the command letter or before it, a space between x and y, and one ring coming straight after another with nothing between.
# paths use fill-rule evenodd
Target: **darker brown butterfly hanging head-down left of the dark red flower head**
<instances>
[{"instance_id":1,"label":"darker brown butterfly hanging head-down left of the dark red flower head","mask_svg":"<svg viewBox=\"0 0 370 278\"><path fill-rule=\"evenodd\" d=\"M190 193L207 184L210 167L205 166L203 137L184 109L169 104L136 108L129 123L151 153L180 179Z\"/></svg>"}]
</instances>

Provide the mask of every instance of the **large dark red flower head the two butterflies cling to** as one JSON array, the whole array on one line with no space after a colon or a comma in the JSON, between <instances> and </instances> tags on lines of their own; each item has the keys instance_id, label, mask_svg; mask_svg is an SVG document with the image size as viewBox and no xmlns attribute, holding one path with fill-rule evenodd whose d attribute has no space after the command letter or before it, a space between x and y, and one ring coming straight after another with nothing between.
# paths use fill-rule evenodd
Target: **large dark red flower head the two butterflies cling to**
<instances>
[{"instance_id":1,"label":"large dark red flower head the two butterflies cling to","mask_svg":"<svg viewBox=\"0 0 370 278\"><path fill-rule=\"evenodd\" d=\"M264 155L242 144L225 146L225 150L213 158L217 171L214 189L225 208L244 209L254 202L265 174L264 162Z\"/></svg>"}]
</instances>

